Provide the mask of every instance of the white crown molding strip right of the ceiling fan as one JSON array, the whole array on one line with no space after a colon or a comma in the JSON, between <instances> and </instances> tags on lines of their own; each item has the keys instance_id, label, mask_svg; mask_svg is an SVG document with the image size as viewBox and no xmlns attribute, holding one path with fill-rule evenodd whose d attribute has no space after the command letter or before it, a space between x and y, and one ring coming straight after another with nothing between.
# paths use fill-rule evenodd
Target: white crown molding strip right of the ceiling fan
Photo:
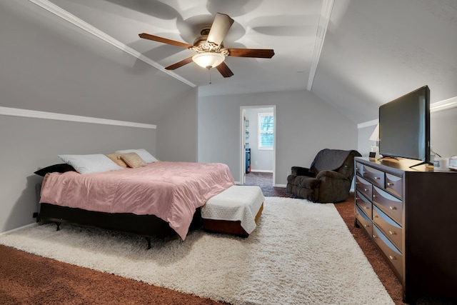
<instances>
[{"instance_id":1,"label":"white crown molding strip right of the ceiling fan","mask_svg":"<svg viewBox=\"0 0 457 305\"><path fill-rule=\"evenodd\" d=\"M313 88L314 76L316 75L317 65L319 63L319 58L321 57L323 41L326 38L328 22L330 21L331 11L333 9L333 1L334 0L322 1L321 16L319 16L313 58L311 60L311 71L309 72L308 87L306 88L308 91L311 91L311 88Z\"/></svg>"}]
</instances>

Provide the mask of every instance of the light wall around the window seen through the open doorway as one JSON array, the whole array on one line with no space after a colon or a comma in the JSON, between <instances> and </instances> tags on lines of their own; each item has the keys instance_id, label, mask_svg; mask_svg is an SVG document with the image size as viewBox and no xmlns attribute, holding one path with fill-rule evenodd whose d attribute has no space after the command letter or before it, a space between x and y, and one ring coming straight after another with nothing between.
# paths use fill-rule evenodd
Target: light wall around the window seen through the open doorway
<instances>
[{"instance_id":1,"label":"light wall around the window seen through the open doorway","mask_svg":"<svg viewBox=\"0 0 457 305\"><path fill-rule=\"evenodd\" d=\"M251 148L251 170L273 172L273 150L259 150L258 147L258 114L273 113L273 108L248 108L246 119L249 120L249 147Z\"/></svg>"}]
</instances>

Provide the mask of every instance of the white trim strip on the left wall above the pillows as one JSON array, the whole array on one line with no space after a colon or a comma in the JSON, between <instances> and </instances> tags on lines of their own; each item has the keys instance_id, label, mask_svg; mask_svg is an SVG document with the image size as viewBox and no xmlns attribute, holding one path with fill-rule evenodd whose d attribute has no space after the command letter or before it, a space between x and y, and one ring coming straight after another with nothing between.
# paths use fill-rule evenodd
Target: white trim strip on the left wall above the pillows
<instances>
[{"instance_id":1,"label":"white trim strip on the left wall above the pillows","mask_svg":"<svg viewBox=\"0 0 457 305\"><path fill-rule=\"evenodd\" d=\"M0 115L3 116L21 116L26 118L34 119L49 119L58 121L74 121L79 123L91 123L91 124L104 124L114 126L126 126L146 129L156 129L157 126L153 124L142 124L129 121L116 121L110 119L99 119L90 116L74 116L71 114L56 114L54 112L36 111L19 108L9 108L0 106Z\"/></svg>"}]
</instances>

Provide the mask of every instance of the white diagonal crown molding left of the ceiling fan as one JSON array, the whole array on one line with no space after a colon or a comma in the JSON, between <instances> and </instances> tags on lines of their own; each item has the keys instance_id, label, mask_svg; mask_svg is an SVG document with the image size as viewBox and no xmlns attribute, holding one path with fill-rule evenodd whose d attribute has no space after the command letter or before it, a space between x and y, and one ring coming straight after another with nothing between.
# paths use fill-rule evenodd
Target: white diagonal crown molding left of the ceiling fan
<instances>
[{"instance_id":1,"label":"white diagonal crown molding left of the ceiling fan","mask_svg":"<svg viewBox=\"0 0 457 305\"><path fill-rule=\"evenodd\" d=\"M97 38L107 42L108 44L111 44L111 46L115 46L116 48L121 49L122 51L130 54L131 56L134 56L137 59L144 61L146 64L149 64L150 66L154 66L156 69L159 69L160 71L162 71L166 74L169 74L170 76L173 76L175 79L182 81L184 84L187 84L193 88L196 87L196 84L192 83L191 81L184 79L184 77L179 76L178 74L174 73L173 71L166 70L165 67L162 66L161 64L158 64L156 61L149 59L149 57L144 56L143 54L139 53L139 51L136 51L136 50L132 49L130 46L123 44L121 41L114 39L113 37L106 34L104 31L100 31L95 26L91 26L91 24L88 24L86 21L83 21L83 20L79 19L78 17L74 16L73 14L70 14L68 11L61 9L60 6L56 6L56 4L53 4L53 3L49 2L48 0L29 0L29 1L33 4L36 4L37 6L40 6L43 9L46 9L46 11L49 11L50 13L52 13L56 16L59 16L61 19L64 19L64 20L68 21L69 23L74 24L75 26L78 26L80 29L96 36Z\"/></svg>"}]
</instances>

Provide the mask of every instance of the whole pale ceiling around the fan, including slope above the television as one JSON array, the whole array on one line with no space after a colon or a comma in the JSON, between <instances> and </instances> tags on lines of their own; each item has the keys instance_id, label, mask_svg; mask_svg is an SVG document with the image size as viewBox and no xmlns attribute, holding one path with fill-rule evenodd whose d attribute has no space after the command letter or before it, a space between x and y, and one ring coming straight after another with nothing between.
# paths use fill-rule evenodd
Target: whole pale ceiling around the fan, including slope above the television
<instances>
[{"instance_id":1,"label":"whole pale ceiling around the fan, including slope above the television","mask_svg":"<svg viewBox=\"0 0 457 305\"><path fill-rule=\"evenodd\" d=\"M455 0L31 1L198 86L201 96L310 90L355 123L425 84L432 103L457 96ZM217 12L234 19L226 47L274 49L273 58L229 56L229 78L194 63L166 71L194 51L138 36L193 44Z\"/></svg>"}]
</instances>

